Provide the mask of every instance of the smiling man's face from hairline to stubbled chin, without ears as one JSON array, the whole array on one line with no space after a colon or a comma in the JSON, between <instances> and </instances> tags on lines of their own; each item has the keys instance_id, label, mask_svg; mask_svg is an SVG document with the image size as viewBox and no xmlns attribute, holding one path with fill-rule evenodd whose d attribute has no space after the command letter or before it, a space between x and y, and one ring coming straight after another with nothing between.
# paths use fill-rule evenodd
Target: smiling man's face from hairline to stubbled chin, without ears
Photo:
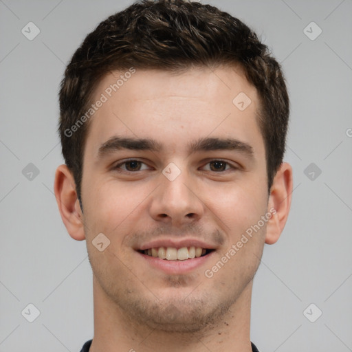
<instances>
[{"instance_id":1,"label":"smiling man's face from hairline to stubbled chin, without ears","mask_svg":"<svg viewBox=\"0 0 352 352\"><path fill-rule=\"evenodd\" d=\"M95 294L150 327L197 331L243 295L263 251L270 206L259 98L234 68L137 69L109 90L120 74L97 87L94 101L107 101L85 144ZM234 100L241 92L245 109L249 100ZM110 241L102 251L98 234Z\"/></svg>"}]
</instances>

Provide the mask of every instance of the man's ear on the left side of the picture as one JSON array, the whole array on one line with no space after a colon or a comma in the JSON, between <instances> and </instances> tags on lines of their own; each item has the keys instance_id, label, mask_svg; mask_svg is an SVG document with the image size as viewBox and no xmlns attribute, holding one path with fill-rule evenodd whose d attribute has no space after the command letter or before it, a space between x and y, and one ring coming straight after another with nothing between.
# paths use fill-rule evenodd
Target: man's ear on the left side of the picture
<instances>
[{"instance_id":1,"label":"man's ear on the left side of the picture","mask_svg":"<svg viewBox=\"0 0 352 352\"><path fill-rule=\"evenodd\" d=\"M83 213L76 193L74 176L66 165L58 166L56 169L54 192L67 232L73 239L83 241L85 239Z\"/></svg>"}]
</instances>

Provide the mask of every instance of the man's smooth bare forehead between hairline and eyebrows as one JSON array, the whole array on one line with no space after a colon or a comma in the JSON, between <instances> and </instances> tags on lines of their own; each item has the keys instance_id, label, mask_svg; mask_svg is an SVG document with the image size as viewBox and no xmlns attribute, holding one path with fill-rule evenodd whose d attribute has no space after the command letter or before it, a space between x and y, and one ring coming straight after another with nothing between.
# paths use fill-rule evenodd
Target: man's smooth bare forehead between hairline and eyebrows
<instances>
[{"instance_id":1,"label":"man's smooth bare forehead between hairline and eyebrows","mask_svg":"<svg viewBox=\"0 0 352 352\"><path fill-rule=\"evenodd\" d=\"M103 102L87 133L94 154L113 135L157 137L170 151L219 135L251 142L254 150L263 146L257 91L239 67L113 72L96 88L93 102L98 101Z\"/></svg>"}]
</instances>

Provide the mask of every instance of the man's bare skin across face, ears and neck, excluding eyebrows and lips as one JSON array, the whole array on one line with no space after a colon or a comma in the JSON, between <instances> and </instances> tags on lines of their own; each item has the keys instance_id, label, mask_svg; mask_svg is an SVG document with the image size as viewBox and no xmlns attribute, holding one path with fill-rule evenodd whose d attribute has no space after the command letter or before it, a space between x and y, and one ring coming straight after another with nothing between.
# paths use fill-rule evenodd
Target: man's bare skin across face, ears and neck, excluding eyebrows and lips
<instances>
[{"instance_id":1,"label":"man's bare skin across face, ears and neck, excluding eyebrows and lips","mask_svg":"<svg viewBox=\"0 0 352 352\"><path fill-rule=\"evenodd\" d=\"M105 76L93 100L120 74ZM252 100L244 111L232 103L240 92ZM258 108L256 89L239 68L201 67L181 74L137 69L91 118L83 212L67 166L57 168L54 184L69 235L87 240L94 274L90 351L252 351L252 280L264 244L275 243L283 231L292 193L292 168L284 162L267 194ZM114 135L153 138L164 149L121 149L100 158L100 146ZM250 144L254 156L232 150L189 153L188 143L202 137L236 138ZM144 164L116 168L128 158ZM228 163L225 170L210 164L217 159ZM181 171L173 181L162 174L171 162ZM272 208L276 214L221 270L206 277L205 270ZM102 252L92 243L99 233L110 241ZM200 239L216 251L187 274L166 274L135 251L166 237Z\"/></svg>"}]
</instances>

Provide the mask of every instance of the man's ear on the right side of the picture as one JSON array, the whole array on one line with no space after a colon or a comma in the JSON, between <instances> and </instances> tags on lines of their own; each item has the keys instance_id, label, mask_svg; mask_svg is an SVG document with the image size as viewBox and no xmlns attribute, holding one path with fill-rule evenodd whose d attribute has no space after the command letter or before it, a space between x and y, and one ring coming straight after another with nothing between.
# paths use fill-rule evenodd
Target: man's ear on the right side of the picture
<instances>
[{"instance_id":1,"label":"man's ear on the right side of the picture","mask_svg":"<svg viewBox=\"0 0 352 352\"><path fill-rule=\"evenodd\" d=\"M273 214L267 221L265 235L265 243L269 245L278 241L285 227L291 207L292 187L292 167L287 162L283 162L274 177L267 204L267 212Z\"/></svg>"}]
</instances>

